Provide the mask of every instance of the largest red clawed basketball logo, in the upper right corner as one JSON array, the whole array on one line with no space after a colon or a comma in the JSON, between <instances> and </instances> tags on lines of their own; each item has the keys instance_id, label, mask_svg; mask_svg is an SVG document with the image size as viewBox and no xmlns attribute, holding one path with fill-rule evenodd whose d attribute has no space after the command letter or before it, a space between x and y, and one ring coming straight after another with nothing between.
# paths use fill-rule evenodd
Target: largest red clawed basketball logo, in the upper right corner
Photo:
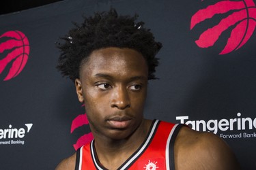
<instances>
[{"instance_id":1,"label":"largest red clawed basketball logo, in the upper right corner","mask_svg":"<svg viewBox=\"0 0 256 170\"><path fill-rule=\"evenodd\" d=\"M233 27L225 48L219 54L227 54L238 50L250 39L255 30L256 7L253 0L219 1L205 9L197 11L191 18L190 30L204 20L216 15L229 13L216 26L204 31L195 41L200 48L208 48L221 36L223 31Z\"/></svg>"}]
</instances>

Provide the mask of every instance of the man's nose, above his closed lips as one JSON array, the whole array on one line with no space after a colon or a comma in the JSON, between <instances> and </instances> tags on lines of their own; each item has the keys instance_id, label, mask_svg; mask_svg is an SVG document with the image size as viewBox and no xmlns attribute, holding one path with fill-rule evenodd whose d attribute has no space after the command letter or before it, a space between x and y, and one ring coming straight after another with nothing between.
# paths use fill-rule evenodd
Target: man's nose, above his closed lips
<instances>
[{"instance_id":1,"label":"man's nose, above his closed lips","mask_svg":"<svg viewBox=\"0 0 256 170\"><path fill-rule=\"evenodd\" d=\"M111 107L116 107L118 109L126 109L130 107L128 90L125 87L117 87L113 89Z\"/></svg>"}]
</instances>

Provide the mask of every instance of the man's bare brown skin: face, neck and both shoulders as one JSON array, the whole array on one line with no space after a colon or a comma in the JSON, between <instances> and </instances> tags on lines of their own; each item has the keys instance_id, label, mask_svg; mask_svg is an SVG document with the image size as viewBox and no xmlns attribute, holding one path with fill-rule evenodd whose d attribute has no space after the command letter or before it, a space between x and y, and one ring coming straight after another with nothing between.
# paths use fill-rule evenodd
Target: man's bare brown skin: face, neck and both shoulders
<instances>
[{"instance_id":1,"label":"man's bare brown skin: face, neck and both shoulders","mask_svg":"<svg viewBox=\"0 0 256 170\"><path fill-rule=\"evenodd\" d=\"M117 169L143 143L152 120L143 118L147 95L147 63L129 48L95 50L76 79L79 101L85 103L100 163ZM107 154L106 154L107 153ZM239 169L229 146L212 133L183 127L174 146L175 169ZM76 154L56 170L74 169Z\"/></svg>"}]
</instances>

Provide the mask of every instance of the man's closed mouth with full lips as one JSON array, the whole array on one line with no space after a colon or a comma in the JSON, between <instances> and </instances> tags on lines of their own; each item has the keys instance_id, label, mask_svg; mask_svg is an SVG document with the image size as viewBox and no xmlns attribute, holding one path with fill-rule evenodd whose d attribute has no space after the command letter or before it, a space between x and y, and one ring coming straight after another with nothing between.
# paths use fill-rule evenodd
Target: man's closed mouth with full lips
<instances>
[{"instance_id":1,"label":"man's closed mouth with full lips","mask_svg":"<svg viewBox=\"0 0 256 170\"><path fill-rule=\"evenodd\" d=\"M132 122L128 116L113 116L107 120L113 129L126 129Z\"/></svg>"}]
</instances>

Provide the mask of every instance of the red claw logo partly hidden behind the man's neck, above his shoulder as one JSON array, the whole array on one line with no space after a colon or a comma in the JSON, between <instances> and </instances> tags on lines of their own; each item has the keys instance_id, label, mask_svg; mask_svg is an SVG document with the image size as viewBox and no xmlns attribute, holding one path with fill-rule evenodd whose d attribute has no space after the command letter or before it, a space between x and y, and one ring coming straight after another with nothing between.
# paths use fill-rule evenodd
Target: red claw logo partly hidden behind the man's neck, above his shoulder
<instances>
[{"instance_id":1,"label":"red claw logo partly hidden behind the man's neck, above his shoulder","mask_svg":"<svg viewBox=\"0 0 256 170\"><path fill-rule=\"evenodd\" d=\"M82 107L84 107L85 105L82 105ZM88 119L86 114L80 114L79 116L77 116L76 118L74 118L74 120L72 121L71 124L71 133L73 133L73 131L77 128L79 128L80 126L83 125L87 125L89 124ZM78 150L79 148L81 148L81 146L89 143L92 139L93 139L93 135L92 133L87 133L83 136L81 136L76 143L73 145L75 150Z\"/></svg>"}]
</instances>

